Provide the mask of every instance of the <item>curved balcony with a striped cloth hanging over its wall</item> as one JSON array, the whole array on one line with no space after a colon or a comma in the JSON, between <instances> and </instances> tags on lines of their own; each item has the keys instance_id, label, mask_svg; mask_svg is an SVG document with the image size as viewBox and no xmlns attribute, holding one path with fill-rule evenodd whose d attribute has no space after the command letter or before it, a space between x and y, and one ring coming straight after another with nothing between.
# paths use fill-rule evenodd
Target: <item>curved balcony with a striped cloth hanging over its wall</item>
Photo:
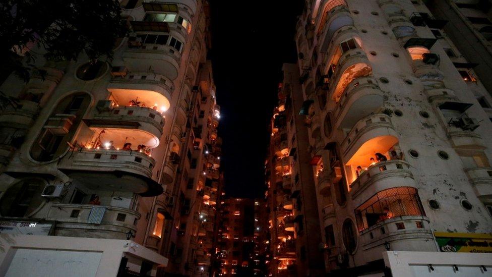
<instances>
[{"instance_id":1,"label":"curved balcony with a striped cloth hanging over its wall","mask_svg":"<svg viewBox=\"0 0 492 277\"><path fill-rule=\"evenodd\" d=\"M89 222L92 208L104 209L100 223ZM52 204L46 215L46 220L56 221L56 236L120 240L137 231L134 222L139 218L140 213L126 208L58 203Z\"/></svg>"}]
</instances>

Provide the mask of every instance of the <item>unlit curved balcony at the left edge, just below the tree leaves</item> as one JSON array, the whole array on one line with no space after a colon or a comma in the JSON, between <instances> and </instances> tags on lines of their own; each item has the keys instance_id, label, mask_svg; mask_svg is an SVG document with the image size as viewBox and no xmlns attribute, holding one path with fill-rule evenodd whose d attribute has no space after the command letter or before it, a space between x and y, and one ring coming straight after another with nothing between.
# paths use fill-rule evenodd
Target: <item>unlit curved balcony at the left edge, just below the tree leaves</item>
<instances>
[{"instance_id":1,"label":"unlit curved balcony at the left edge, just below the tree leaves","mask_svg":"<svg viewBox=\"0 0 492 277\"><path fill-rule=\"evenodd\" d=\"M20 100L14 108L7 105L0 114L0 125L3 127L29 128L39 112L39 104L33 101Z\"/></svg>"}]
</instances>

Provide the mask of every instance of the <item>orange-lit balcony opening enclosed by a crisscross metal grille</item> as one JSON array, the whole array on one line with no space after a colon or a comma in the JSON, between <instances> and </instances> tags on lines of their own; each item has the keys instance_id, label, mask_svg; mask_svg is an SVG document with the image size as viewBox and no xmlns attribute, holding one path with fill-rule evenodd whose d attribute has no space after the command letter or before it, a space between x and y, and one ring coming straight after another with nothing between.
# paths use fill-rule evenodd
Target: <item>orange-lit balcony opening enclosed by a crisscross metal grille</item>
<instances>
[{"instance_id":1,"label":"orange-lit balcony opening enclosed by a crisscross metal grille","mask_svg":"<svg viewBox=\"0 0 492 277\"><path fill-rule=\"evenodd\" d=\"M417 190L411 187L380 191L358 206L354 213L359 232L396 216L425 215Z\"/></svg>"}]
</instances>

